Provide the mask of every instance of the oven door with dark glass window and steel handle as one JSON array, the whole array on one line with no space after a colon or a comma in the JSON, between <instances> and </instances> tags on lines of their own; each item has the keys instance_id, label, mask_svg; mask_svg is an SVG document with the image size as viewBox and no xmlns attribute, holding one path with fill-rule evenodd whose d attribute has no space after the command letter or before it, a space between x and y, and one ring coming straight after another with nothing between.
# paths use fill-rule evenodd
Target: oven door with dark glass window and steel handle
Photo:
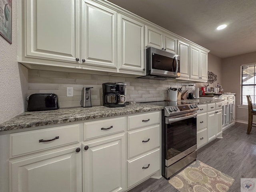
<instances>
[{"instance_id":1,"label":"oven door with dark glass window and steel handle","mask_svg":"<svg viewBox=\"0 0 256 192\"><path fill-rule=\"evenodd\" d=\"M197 112L190 112L165 118L165 166L174 164L196 150L196 116Z\"/></svg>"}]
</instances>

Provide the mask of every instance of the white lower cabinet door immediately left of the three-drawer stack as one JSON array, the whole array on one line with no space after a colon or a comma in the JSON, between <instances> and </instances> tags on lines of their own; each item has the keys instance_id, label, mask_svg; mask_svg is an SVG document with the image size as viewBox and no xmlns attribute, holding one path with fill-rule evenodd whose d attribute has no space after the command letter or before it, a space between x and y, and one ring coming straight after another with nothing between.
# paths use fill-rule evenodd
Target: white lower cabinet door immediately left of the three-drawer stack
<instances>
[{"instance_id":1,"label":"white lower cabinet door immediately left of the three-drawer stack","mask_svg":"<svg viewBox=\"0 0 256 192\"><path fill-rule=\"evenodd\" d=\"M88 148L83 148L83 192L124 191L124 134L85 142L84 146Z\"/></svg>"}]
</instances>

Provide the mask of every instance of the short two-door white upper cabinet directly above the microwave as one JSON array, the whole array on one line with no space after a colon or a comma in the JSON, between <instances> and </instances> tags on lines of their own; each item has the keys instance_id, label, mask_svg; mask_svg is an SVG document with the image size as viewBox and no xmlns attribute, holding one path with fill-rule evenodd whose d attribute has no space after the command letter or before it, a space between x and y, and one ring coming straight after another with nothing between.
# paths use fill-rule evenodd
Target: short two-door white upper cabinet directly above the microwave
<instances>
[{"instance_id":1,"label":"short two-door white upper cabinet directly above the microwave","mask_svg":"<svg viewBox=\"0 0 256 192\"><path fill-rule=\"evenodd\" d=\"M176 53L176 38L156 28L146 26L146 46Z\"/></svg>"}]
</instances>

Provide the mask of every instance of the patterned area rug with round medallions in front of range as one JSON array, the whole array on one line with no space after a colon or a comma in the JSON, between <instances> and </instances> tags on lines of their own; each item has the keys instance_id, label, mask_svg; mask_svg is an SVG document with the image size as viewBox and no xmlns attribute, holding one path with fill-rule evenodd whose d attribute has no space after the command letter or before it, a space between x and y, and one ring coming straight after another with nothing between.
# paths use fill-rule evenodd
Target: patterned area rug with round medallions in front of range
<instances>
[{"instance_id":1,"label":"patterned area rug with round medallions in front of range","mask_svg":"<svg viewBox=\"0 0 256 192\"><path fill-rule=\"evenodd\" d=\"M169 180L179 192L227 192L234 179L200 161L195 161Z\"/></svg>"}]
</instances>

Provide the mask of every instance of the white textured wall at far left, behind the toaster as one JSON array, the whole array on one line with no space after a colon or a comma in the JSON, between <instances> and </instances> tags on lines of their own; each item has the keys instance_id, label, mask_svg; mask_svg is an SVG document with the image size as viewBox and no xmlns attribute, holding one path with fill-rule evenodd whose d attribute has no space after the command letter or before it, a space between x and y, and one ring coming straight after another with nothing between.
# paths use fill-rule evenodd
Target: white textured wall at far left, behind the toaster
<instances>
[{"instance_id":1,"label":"white textured wall at far left, behind the toaster","mask_svg":"<svg viewBox=\"0 0 256 192\"><path fill-rule=\"evenodd\" d=\"M12 44L0 36L0 123L24 112L28 70L17 62L17 1L12 1Z\"/></svg>"}]
</instances>

